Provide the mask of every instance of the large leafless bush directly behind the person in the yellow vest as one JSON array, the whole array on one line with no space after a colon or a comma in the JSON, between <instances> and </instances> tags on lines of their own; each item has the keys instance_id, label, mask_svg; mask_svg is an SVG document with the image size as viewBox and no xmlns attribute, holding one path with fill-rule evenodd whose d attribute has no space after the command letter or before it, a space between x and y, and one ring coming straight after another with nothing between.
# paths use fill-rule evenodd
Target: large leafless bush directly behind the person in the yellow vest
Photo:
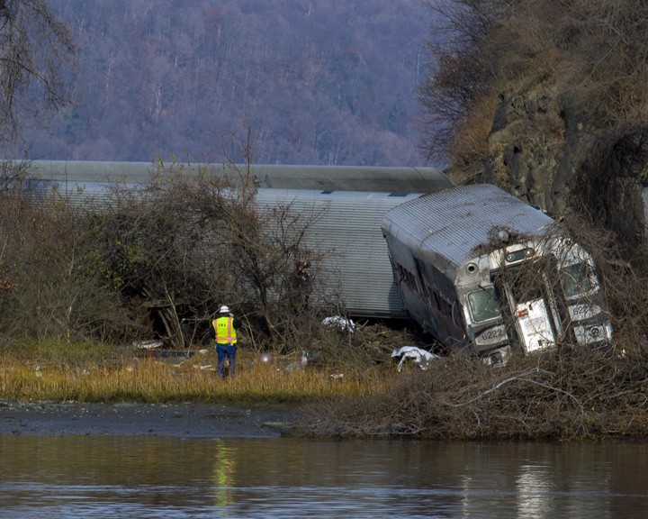
<instances>
[{"instance_id":1,"label":"large leafless bush directly behind the person in the yellow vest","mask_svg":"<svg viewBox=\"0 0 648 519\"><path fill-rule=\"evenodd\" d=\"M259 208L256 193L251 170L236 164L198 175L160 164L139 190L115 185L92 217L98 270L175 347L199 339L222 304L248 332L284 345L295 327L293 265L312 259L303 240L317 214Z\"/></svg>"}]
</instances>

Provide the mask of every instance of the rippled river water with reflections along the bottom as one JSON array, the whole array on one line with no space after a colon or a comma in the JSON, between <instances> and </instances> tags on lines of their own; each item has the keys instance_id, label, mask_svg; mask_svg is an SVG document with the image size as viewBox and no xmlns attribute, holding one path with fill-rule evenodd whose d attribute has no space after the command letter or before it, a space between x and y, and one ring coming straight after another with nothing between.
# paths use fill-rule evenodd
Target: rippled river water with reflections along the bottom
<instances>
[{"instance_id":1,"label":"rippled river water with reflections along the bottom","mask_svg":"<svg viewBox=\"0 0 648 519\"><path fill-rule=\"evenodd\" d=\"M648 517L640 442L0 436L0 517Z\"/></svg>"}]
</instances>

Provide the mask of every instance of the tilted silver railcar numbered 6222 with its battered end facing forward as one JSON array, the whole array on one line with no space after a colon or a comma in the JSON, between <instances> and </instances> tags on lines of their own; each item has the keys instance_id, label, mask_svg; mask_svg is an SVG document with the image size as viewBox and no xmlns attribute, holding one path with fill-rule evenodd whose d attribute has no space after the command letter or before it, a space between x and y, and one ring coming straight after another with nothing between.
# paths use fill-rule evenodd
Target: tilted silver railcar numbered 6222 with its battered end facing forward
<instances>
[{"instance_id":1,"label":"tilted silver railcar numbered 6222 with its battered end facing forward","mask_svg":"<svg viewBox=\"0 0 648 519\"><path fill-rule=\"evenodd\" d=\"M452 187L383 218L410 317L488 363L559 341L610 341L590 254L552 218L490 185Z\"/></svg>"}]
</instances>

